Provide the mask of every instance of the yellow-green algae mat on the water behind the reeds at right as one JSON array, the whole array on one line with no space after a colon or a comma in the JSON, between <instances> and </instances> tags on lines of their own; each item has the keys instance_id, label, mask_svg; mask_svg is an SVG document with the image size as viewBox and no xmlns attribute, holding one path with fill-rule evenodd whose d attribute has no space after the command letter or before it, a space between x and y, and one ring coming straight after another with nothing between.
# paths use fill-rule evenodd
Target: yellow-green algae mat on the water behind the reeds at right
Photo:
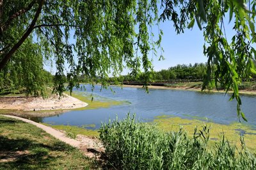
<instances>
[{"instance_id":1,"label":"yellow-green algae mat on the water behind the reeds at right","mask_svg":"<svg viewBox=\"0 0 256 170\"><path fill-rule=\"evenodd\" d=\"M246 146L250 150L256 151L256 128L250 125L244 125L243 123L221 125L202 120L187 120L179 117L168 118L168 116L162 116L161 118L157 117L154 119L154 123L156 123L157 127L162 128L166 132L177 131L180 127L182 127L191 137L194 134L195 127L202 129L204 125L207 125L207 127L210 127L209 139L212 146L216 141L220 141L224 134L225 138L227 138L230 143L236 144L236 146L239 148L241 146L240 138L242 135L244 137Z\"/></svg>"}]
</instances>

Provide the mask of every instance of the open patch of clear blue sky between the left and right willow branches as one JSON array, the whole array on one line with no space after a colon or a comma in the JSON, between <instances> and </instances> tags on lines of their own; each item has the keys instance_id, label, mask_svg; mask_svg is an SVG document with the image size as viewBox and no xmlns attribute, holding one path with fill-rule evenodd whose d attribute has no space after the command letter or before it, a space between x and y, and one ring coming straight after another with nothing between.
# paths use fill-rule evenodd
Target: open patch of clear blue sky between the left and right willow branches
<instances>
[{"instance_id":1,"label":"open patch of clear blue sky between the left and right willow branches","mask_svg":"<svg viewBox=\"0 0 256 170\"><path fill-rule=\"evenodd\" d=\"M189 63L205 63L207 58L203 54L204 36L198 26L193 29L185 29L184 33L177 35L170 21L161 22L160 29L163 30L162 47L164 49L163 61L154 59L154 70L167 69L170 66ZM160 55L161 53L158 52Z\"/></svg>"}]
</instances>

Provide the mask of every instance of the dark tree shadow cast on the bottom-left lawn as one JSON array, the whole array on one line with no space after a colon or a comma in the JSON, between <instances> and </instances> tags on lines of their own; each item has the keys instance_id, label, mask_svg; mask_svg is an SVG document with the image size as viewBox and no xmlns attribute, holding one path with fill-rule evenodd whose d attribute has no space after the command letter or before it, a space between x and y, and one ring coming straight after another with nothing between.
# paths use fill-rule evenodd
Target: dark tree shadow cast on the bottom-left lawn
<instances>
[{"instance_id":1,"label":"dark tree shadow cast on the bottom-left lawn","mask_svg":"<svg viewBox=\"0 0 256 170\"><path fill-rule=\"evenodd\" d=\"M50 151L73 149L58 141L49 146L29 139L8 139L0 135L0 169L44 169L56 161L57 157L50 155Z\"/></svg>"}]
</instances>

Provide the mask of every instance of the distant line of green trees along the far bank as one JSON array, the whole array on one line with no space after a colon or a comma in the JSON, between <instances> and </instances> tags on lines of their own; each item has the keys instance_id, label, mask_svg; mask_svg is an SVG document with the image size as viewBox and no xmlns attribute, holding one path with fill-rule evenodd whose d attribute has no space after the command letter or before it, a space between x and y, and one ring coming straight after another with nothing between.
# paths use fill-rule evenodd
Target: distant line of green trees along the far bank
<instances>
[{"instance_id":1,"label":"distant line of green trees along the far bank","mask_svg":"<svg viewBox=\"0 0 256 170\"><path fill-rule=\"evenodd\" d=\"M206 75L207 65L206 63L195 63L194 65L177 65L168 68L167 70L161 70L154 72L152 81L156 86L162 86L163 84L170 84L175 82L198 82L203 81ZM39 71L38 71L39 72ZM29 95L38 95L39 91L43 91L45 86L54 86L54 79L56 75L52 75L50 72L42 70L43 73L37 73L35 75L27 75L24 73L14 74L12 72L0 72L0 94L15 92L17 89L23 89L24 93ZM39 76L40 75L40 76ZM58 80L63 83L69 82L67 88L70 87L70 83L78 85L78 83L88 82L102 82L106 84L144 84L145 73L140 73L137 76L120 75L119 77L109 77L108 80L102 80L100 77L86 77L84 75L76 75L76 77L70 77L70 75L60 75ZM252 75L251 81L255 81L256 76ZM68 81L69 80L69 81ZM72 80L72 81L70 81ZM248 81L248 80L243 80ZM72 85L72 84L71 84ZM59 87L59 86L57 86ZM60 87L64 88L64 87Z\"/></svg>"}]
</instances>

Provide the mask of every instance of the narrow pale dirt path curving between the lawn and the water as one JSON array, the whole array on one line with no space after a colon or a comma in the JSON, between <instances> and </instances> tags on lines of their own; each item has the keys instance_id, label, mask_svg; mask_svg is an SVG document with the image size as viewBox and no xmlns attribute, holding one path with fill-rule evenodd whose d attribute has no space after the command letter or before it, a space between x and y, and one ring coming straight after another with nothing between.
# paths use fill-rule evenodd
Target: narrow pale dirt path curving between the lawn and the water
<instances>
[{"instance_id":1,"label":"narrow pale dirt path curving between the lawn and the water","mask_svg":"<svg viewBox=\"0 0 256 170\"><path fill-rule=\"evenodd\" d=\"M32 125L35 125L38 128L42 128L42 130L44 130L48 134L51 134L57 139L60 139L60 141L63 141L64 143L67 143L67 144L70 144L71 146L79 148L84 152L84 155L86 155L87 157L98 158L97 156L99 156L99 153L104 151L104 148L98 139L92 139L92 138L86 137L85 135L77 135L76 140L70 139L67 136L65 136L63 132L55 130L54 128L51 128L51 127L47 127L40 123L36 123L35 121L27 120L17 116L10 116L10 115L3 115L3 114L1 116L6 116L8 118L21 120L26 123L31 123Z\"/></svg>"}]
</instances>

